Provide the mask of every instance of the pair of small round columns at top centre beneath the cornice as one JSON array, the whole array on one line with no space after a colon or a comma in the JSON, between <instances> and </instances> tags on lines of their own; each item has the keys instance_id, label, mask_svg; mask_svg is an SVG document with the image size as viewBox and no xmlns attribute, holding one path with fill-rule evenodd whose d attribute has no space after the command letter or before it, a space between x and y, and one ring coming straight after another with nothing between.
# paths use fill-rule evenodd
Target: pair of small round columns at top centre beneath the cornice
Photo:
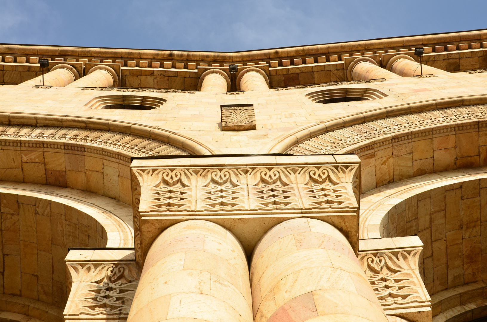
<instances>
[{"instance_id":1,"label":"pair of small round columns at top centre beneath the cornice","mask_svg":"<svg viewBox=\"0 0 487 322\"><path fill-rule=\"evenodd\" d=\"M267 75L260 69L250 67L239 73L237 79L237 89L249 90L268 90L269 80ZM222 93L230 87L228 75L217 69L204 72L200 77L199 88L203 92Z\"/></svg>"}]
</instances>

